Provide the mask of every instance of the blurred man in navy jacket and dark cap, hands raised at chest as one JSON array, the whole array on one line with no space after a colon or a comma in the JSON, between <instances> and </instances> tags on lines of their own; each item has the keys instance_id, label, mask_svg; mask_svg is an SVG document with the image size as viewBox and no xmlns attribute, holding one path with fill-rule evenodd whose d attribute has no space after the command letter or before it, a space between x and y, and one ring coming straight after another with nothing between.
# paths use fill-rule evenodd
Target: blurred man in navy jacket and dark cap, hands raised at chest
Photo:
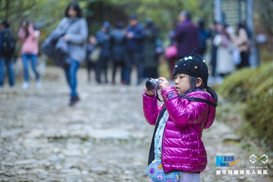
<instances>
[{"instance_id":1,"label":"blurred man in navy jacket and dark cap, hands raised at chest","mask_svg":"<svg viewBox=\"0 0 273 182\"><path fill-rule=\"evenodd\" d=\"M137 84L143 79L143 39L145 29L137 20L137 16L131 14L128 16L129 25L126 27L126 62L125 79L126 84L130 84L130 75L132 65L135 64L138 72Z\"/></svg>"}]
</instances>

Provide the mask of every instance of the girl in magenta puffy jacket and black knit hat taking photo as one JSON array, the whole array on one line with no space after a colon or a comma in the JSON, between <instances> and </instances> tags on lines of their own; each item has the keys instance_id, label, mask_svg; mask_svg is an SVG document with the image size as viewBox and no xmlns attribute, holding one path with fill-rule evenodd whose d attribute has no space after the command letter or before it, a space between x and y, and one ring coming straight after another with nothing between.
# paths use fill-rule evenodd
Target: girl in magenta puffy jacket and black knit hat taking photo
<instances>
[{"instance_id":1,"label":"girl in magenta puffy jacket and black knit hat taking photo","mask_svg":"<svg viewBox=\"0 0 273 182\"><path fill-rule=\"evenodd\" d=\"M155 125L148 164L155 158L161 159L165 174L180 171L179 181L200 181L199 174L207 166L201 136L203 129L209 128L214 121L215 106L179 96L217 103L217 94L207 86L208 75L205 61L194 49L175 66L174 86L170 86L167 79L159 78L163 105L158 106L155 92L144 87L144 116L149 124Z\"/></svg>"}]
</instances>

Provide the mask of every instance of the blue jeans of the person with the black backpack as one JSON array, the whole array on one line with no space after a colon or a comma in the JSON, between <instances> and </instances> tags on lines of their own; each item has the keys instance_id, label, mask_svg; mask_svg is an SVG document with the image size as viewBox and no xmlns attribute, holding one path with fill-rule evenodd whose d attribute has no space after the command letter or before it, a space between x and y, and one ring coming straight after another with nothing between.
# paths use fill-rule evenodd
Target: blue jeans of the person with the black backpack
<instances>
[{"instance_id":1,"label":"blue jeans of the person with the black backpack","mask_svg":"<svg viewBox=\"0 0 273 182\"><path fill-rule=\"evenodd\" d=\"M0 86L4 85L5 80L5 65L8 71L9 85L13 86L15 84L14 72L12 67L11 58L0 56Z\"/></svg>"}]
</instances>

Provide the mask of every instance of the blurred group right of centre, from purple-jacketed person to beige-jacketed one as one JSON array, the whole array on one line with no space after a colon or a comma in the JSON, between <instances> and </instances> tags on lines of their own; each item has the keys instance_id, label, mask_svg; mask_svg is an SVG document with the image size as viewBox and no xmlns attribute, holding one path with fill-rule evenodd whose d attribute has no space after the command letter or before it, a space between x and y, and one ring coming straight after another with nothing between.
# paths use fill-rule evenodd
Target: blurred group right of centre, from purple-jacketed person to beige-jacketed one
<instances>
[{"instance_id":1,"label":"blurred group right of centre, from purple-jacketed person to beige-jacketed one","mask_svg":"<svg viewBox=\"0 0 273 182\"><path fill-rule=\"evenodd\" d=\"M171 45L165 50L170 63L170 78L173 77L174 65L194 48L198 49L203 59L209 59L210 83L221 83L235 69L249 66L251 32L245 21L239 22L236 30L219 22L214 22L206 30L204 22L203 18L198 18L194 24L189 11L180 12L179 22L175 23L174 29L168 34ZM211 52L208 52L207 46L210 44ZM170 47L175 47L177 51Z\"/></svg>"}]
</instances>

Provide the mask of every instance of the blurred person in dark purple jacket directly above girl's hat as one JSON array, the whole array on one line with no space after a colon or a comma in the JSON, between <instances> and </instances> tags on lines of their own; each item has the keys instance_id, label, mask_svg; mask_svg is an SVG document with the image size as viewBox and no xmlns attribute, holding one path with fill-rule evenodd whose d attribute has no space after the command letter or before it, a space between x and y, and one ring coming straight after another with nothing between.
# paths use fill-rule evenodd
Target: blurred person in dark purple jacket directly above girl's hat
<instances>
[{"instance_id":1,"label":"blurred person in dark purple jacket directly above girl's hat","mask_svg":"<svg viewBox=\"0 0 273 182\"><path fill-rule=\"evenodd\" d=\"M191 13L187 10L180 12L178 20L174 40L178 43L176 57L182 59L198 48L198 28L191 22Z\"/></svg>"}]
</instances>

